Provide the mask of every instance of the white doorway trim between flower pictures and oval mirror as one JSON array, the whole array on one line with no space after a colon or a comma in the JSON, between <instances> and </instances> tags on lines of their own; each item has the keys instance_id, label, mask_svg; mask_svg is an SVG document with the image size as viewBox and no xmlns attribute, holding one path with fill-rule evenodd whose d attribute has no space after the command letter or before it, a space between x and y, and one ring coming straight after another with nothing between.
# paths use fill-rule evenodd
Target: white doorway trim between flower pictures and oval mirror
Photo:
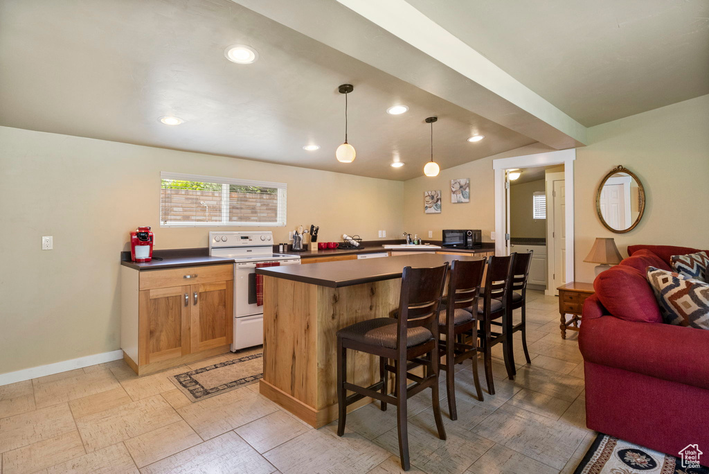
<instances>
[{"instance_id":1,"label":"white doorway trim between flower pictures and oval mirror","mask_svg":"<svg viewBox=\"0 0 709 474\"><path fill-rule=\"evenodd\" d=\"M555 216L552 219L551 230L555 245L553 249L547 250L547 272L548 276L552 277L547 277L549 282L547 294L558 294L557 287L574 281L574 160L576 160L576 150L573 149L493 160L496 255L509 255L518 250L511 246L510 241L508 172L510 170L524 172L528 168L564 165L563 172L559 172L559 175L563 175L563 180L552 180L552 199L547 199L547 212ZM548 226L549 219L547 219L547 232Z\"/></svg>"}]
</instances>

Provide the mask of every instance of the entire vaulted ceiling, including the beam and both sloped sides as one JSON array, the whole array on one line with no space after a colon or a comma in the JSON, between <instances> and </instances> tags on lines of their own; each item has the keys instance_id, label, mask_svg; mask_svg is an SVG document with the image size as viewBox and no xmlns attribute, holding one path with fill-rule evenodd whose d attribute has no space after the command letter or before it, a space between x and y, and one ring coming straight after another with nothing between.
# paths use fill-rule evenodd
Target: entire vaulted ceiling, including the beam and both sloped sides
<instances>
[{"instance_id":1,"label":"entire vaulted ceiling, including the beam and both sloped sides","mask_svg":"<svg viewBox=\"0 0 709 474\"><path fill-rule=\"evenodd\" d=\"M0 125L407 180L709 93L707 1L600 1L0 0Z\"/></svg>"}]
</instances>

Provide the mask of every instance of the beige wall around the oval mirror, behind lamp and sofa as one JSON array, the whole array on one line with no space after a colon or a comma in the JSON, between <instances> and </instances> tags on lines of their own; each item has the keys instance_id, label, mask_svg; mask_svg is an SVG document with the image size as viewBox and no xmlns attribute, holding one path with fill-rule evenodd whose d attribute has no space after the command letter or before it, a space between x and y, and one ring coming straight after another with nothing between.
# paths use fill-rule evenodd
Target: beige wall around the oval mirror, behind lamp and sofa
<instances>
[{"instance_id":1,"label":"beige wall around the oval mirror, behind lamp and sofa","mask_svg":"<svg viewBox=\"0 0 709 474\"><path fill-rule=\"evenodd\" d=\"M584 263L596 237L613 237L621 255L632 244L709 248L709 95L588 129L576 184L576 280L593 281ZM640 178L647 204L628 233L608 231L596 216L596 189L613 167Z\"/></svg>"}]
</instances>

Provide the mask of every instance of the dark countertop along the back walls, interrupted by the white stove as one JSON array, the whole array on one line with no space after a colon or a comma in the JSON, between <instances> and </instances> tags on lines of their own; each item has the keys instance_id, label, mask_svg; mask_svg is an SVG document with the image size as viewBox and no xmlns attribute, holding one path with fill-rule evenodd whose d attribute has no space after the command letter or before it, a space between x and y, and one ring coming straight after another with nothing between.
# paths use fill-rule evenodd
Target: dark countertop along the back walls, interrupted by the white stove
<instances>
[{"instance_id":1,"label":"dark countertop along the back walls, interrupted by the white stove","mask_svg":"<svg viewBox=\"0 0 709 474\"><path fill-rule=\"evenodd\" d=\"M311 252L279 252L274 250L274 253L283 255L298 255L301 259L316 258L316 257L335 257L337 255L357 255L360 253L377 253L377 252L415 252L415 251L430 251L430 252L455 252L455 253L475 253L490 252L494 247L488 248L483 243L483 248L427 248L428 246L420 246L420 248L407 248L402 250L386 249L383 246L365 246L364 249L342 249L334 248L333 250L318 250ZM130 252L121 252L121 265L133 268L133 270L164 270L166 268L183 268L197 267L200 265L219 265L224 263L233 263L233 258L210 257L208 248L179 248L174 250L153 250L153 257L160 257L162 260L151 260L150 262L138 263L130 261Z\"/></svg>"}]
</instances>

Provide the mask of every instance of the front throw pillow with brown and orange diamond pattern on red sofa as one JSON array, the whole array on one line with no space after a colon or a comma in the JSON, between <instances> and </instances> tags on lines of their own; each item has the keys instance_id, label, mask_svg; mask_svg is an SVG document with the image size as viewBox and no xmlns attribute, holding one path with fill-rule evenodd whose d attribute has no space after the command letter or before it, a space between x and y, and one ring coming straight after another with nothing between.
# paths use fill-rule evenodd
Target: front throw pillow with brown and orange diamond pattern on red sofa
<instances>
[{"instance_id":1,"label":"front throw pillow with brown and orange diamond pattern on red sofa","mask_svg":"<svg viewBox=\"0 0 709 474\"><path fill-rule=\"evenodd\" d=\"M679 273L647 268L662 319L676 326L709 329L709 284L684 280Z\"/></svg>"}]
</instances>

